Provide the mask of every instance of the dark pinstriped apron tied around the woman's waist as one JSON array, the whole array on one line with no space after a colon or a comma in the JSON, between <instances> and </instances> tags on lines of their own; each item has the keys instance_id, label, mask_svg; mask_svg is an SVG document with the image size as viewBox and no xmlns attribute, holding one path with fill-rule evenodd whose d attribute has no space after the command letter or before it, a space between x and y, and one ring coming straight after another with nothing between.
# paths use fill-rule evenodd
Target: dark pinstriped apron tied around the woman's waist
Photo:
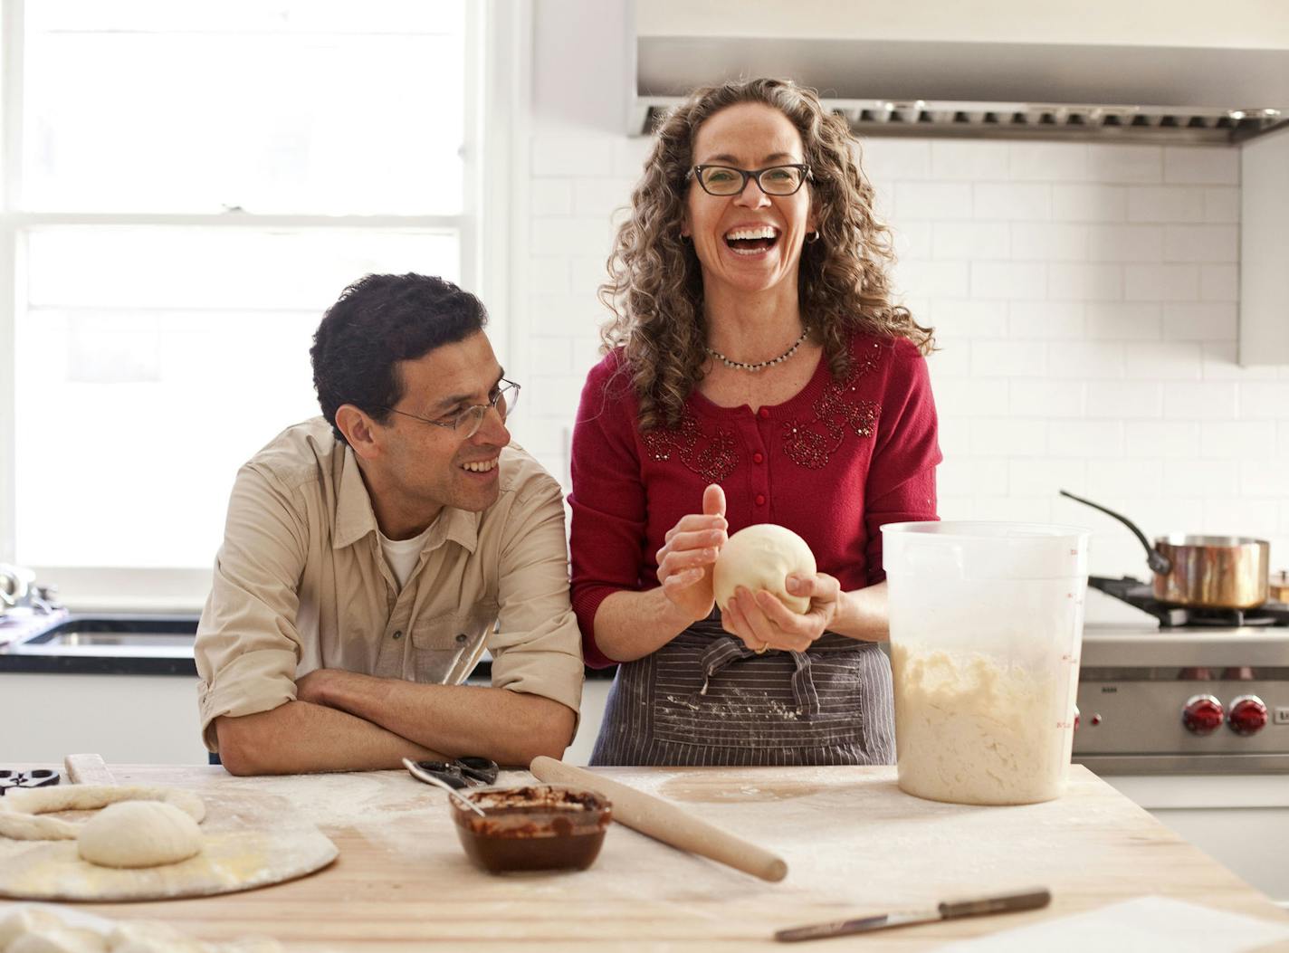
<instances>
[{"instance_id":1,"label":"dark pinstriped apron tied around the woman's waist","mask_svg":"<svg viewBox=\"0 0 1289 953\"><path fill-rule=\"evenodd\" d=\"M592 765L891 765L891 664L825 632L757 655L713 613L617 667Z\"/></svg>"}]
</instances>

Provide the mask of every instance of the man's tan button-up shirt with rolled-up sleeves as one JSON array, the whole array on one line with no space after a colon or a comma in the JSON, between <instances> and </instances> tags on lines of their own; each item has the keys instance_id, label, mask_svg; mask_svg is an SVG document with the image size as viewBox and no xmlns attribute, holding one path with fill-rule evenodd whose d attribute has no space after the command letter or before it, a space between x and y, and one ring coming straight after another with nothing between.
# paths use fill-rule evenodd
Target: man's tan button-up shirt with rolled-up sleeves
<instances>
[{"instance_id":1,"label":"man's tan button-up shirt with rolled-up sleeves","mask_svg":"<svg viewBox=\"0 0 1289 953\"><path fill-rule=\"evenodd\" d=\"M197 627L206 747L218 751L215 718L293 702L317 668L456 685L485 649L495 687L576 712L559 484L513 445L500 468L496 503L445 507L400 591L357 459L326 420L284 431L242 467Z\"/></svg>"}]
</instances>

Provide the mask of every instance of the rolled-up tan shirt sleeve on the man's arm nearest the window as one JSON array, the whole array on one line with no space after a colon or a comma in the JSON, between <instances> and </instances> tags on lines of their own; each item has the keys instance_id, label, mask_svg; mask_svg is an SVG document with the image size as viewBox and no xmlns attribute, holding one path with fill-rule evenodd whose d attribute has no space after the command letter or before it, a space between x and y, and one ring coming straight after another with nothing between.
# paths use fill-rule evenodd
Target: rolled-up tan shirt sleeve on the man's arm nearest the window
<instances>
[{"instance_id":1,"label":"rolled-up tan shirt sleeve on the man's arm nearest the window","mask_svg":"<svg viewBox=\"0 0 1289 953\"><path fill-rule=\"evenodd\" d=\"M300 573L307 524L291 491L244 467L228 503L214 583L197 625L201 735L218 751L214 720L295 700Z\"/></svg>"}]
</instances>

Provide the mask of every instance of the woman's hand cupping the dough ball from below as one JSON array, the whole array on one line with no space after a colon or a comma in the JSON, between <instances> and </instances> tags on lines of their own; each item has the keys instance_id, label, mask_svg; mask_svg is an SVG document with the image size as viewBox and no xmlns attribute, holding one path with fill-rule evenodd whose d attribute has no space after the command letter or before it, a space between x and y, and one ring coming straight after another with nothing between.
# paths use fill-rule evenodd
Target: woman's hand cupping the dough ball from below
<instances>
[{"instance_id":1,"label":"woman's hand cupping the dough ball from below","mask_svg":"<svg viewBox=\"0 0 1289 953\"><path fill-rule=\"evenodd\" d=\"M764 589L754 593L740 585L721 613L722 628L755 651L806 651L840 611L842 585L826 573L790 575L785 582L789 594L809 600L803 615Z\"/></svg>"}]
</instances>

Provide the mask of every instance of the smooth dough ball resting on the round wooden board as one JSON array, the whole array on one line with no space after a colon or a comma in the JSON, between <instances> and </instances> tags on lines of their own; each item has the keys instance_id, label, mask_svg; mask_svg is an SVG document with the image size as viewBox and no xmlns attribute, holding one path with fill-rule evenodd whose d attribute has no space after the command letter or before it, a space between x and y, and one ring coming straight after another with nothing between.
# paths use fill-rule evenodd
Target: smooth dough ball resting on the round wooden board
<instances>
[{"instance_id":1,"label":"smooth dough ball resting on the round wooden board","mask_svg":"<svg viewBox=\"0 0 1289 953\"><path fill-rule=\"evenodd\" d=\"M85 821L77 852L99 867L160 867L201 852L201 828L161 801L110 805Z\"/></svg>"}]
</instances>

